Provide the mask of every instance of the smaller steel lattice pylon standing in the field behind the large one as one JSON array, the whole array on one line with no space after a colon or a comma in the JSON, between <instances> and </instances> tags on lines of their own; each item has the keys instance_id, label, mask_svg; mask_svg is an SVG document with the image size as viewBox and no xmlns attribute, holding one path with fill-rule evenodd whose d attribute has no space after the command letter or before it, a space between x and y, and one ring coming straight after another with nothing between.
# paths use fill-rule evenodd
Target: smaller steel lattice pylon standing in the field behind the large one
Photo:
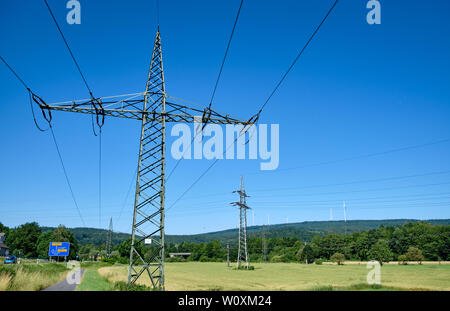
<instances>
[{"instance_id":1,"label":"smaller steel lattice pylon standing in the field behind the large one","mask_svg":"<svg viewBox=\"0 0 450 311\"><path fill-rule=\"evenodd\" d=\"M248 269L248 249L247 249L247 200L249 196L245 192L244 177L241 176L241 188L233 191L233 193L239 193L239 202L231 203L234 206L239 206L239 241L238 241L238 257L237 268L245 262L245 267Z\"/></svg>"}]
</instances>

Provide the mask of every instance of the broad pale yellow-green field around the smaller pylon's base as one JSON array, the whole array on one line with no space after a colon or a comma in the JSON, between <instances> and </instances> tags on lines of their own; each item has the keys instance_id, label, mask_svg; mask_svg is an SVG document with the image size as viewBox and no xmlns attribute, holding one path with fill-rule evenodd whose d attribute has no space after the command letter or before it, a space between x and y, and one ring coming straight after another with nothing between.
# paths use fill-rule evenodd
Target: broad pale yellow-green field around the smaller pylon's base
<instances>
[{"instance_id":1,"label":"broad pale yellow-green field around the smaller pylon's base","mask_svg":"<svg viewBox=\"0 0 450 311\"><path fill-rule=\"evenodd\" d=\"M381 288L367 286L365 265L254 264L234 270L224 263L167 263L166 290L450 290L450 265L383 265ZM126 266L102 267L111 282L127 280ZM147 279L140 284L149 285Z\"/></svg>"}]
</instances>

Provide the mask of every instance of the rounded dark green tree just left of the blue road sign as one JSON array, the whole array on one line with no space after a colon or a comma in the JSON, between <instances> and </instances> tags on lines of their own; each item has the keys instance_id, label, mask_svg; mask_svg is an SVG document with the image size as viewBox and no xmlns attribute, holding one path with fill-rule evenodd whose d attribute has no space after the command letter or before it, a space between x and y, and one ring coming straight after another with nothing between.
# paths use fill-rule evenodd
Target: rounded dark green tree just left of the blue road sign
<instances>
[{"instance_id":1,"label":"rounded dark green tree just left of the blue road sign","mask_svg":"<svg viewBox=\"0 0 450 311\"><path fill-rule=\"evenodd\" d=\"M36 222L26 223L9 231L8 236L6 236L6 244L10 247L12 254L37 257L36 246L40 235L41 228Z\"/></svg>"}]
</instances>

